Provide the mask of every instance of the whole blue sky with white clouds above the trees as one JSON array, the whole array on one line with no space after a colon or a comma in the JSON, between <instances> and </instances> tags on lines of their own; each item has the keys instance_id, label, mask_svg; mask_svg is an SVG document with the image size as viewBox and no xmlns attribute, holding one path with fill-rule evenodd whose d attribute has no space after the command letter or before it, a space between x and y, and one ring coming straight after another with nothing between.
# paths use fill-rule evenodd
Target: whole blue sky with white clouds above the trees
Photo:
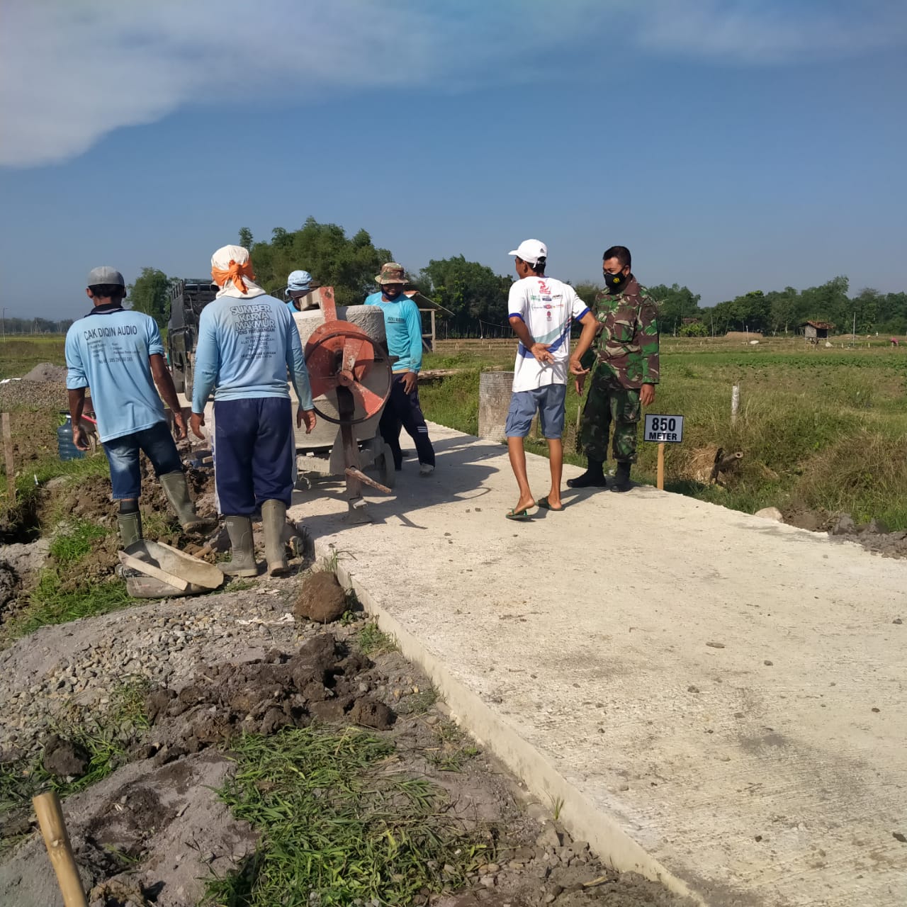
<instances>
[{"instance_id":1,"label":"whole blue sky with white clouds above the trees","mask_svg":"<svg viewBox=\"0 0 907 907\"><path fill-rule=\"evenodd\" d=\"M858 8L7 0L0 304L73 317L95 265L204 276L308 215L410 269L533 236L705 304L905 289L907 4Z\"/></svg>"}]
</instances>

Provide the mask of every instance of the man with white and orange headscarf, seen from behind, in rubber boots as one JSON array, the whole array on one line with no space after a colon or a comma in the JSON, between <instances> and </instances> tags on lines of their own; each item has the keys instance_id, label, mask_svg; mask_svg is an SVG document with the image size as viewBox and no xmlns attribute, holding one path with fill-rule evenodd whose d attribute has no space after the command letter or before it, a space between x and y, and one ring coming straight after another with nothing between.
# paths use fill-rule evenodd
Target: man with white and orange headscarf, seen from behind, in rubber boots
<instances>
[{"instance_id":1,"label":"man with white and orange headscarf, seen from behind, in rubber boots","mask_svg":"<svg viewBox=\"0 0 907 907\"><path fill-rule=\"evenodd\" d=\"M192 432L203 438L214 391L214 483L232 559L228 576L255 576L252 515L260 510L268 573L288 571L283 528L293 490L287 373L299 400L297 425L315 427L312 391L293 317L255 283L249 252L224 246L211 257L217 298L201 310L192 386Z\"/></svg>"}]
</instances>

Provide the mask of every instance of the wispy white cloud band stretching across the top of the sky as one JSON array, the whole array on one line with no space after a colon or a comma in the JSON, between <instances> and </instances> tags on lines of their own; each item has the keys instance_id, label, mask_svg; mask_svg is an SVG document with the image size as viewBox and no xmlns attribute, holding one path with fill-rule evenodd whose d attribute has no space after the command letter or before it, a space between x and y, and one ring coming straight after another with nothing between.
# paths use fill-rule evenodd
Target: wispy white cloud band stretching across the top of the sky
<instances>
[{"instance_id":1,"label":"wispy white cloud band stretching across the top of the sky","mask_svg":"<svg viewBox=\"0 0 907 907\"><path fill-rule=\"evenodd\" d=\"M527 82L541 49L626 36L649 54L775 63L902 44L902 0L5 0L0 165L65 161L122 126L216 103L383 86ZM795 11L795 12L792 12ZM852 17L853 16L853 17ZM589 45L592 45L591 47ZM568 55L567 65L572 57ZM555 65L556 64L556 65ZM578 63L579 64L579 63Z\"/></svg>"}]
</instances>

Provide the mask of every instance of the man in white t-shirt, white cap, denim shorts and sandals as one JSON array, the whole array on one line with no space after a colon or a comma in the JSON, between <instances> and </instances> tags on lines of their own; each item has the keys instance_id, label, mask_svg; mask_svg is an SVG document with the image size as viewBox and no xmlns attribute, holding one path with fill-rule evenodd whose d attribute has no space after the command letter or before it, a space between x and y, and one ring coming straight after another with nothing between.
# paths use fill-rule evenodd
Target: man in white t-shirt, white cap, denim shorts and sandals
<instances>
[{"instance_id":1,"label":"man in white t-shirt, white cap, denim shorts and sandals","mask_svg":"<svg viewBox=\"0 0 907 907\"><path fill-rule=\"evenodd\" d=\"M561 434L571 326L574 319L580 322L582 338L587 341L584 346L588 346L598 329L598 322L570 284L545 277L548 249L543 242L525 239L510 254L516 256L516 273L520 279L511 287L507 310L520 346L513 366L513 394L506 433L513 474L520 486L520 500L507 514L507 519L528 520L529 509L536 503L546 510L563 510ZM536 411L551 458L551 491L538 502L532 497L526 478L526 452L522 446Z\"/></svg>"}]
</instances>

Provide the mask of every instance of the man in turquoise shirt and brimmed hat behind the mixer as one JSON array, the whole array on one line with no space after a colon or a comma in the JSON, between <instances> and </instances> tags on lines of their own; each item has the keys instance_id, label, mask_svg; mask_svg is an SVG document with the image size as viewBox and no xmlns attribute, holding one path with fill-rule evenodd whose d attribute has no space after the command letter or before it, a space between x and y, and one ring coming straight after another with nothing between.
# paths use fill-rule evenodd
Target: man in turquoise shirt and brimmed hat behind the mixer
<instances>
[{"instance_id":1,"label":"man in turquoise shirt and brimmed hat behind the mixer","mask_svg":"<svg viewBox=\"0 0 907 907\"><path fill-rule=\"evenodd\" d=\"M378 430L394 455L396 470L403 468L400 450L400 426L413 438L419 457L419 474L434 473L434 447L428 437L428 426L419 405L416 385L422 368L422 316L412 299L404 293L406 275L402 265L388 262L375 278L380 292L366 297L366 306L378 306L385 316L387 352L396 357L391 394L387 398Z\"/></svg>"}]
</instances>

